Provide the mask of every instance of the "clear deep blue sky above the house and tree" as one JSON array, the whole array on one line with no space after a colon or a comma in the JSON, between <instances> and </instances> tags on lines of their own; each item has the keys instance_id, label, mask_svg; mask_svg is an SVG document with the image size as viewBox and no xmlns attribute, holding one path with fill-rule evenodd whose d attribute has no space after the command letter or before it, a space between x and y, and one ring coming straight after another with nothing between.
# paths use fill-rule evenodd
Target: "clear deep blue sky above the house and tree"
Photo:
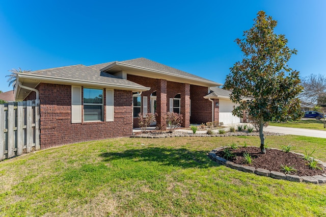
<instances>
[{"instance_id":1,"label":"clear deep blue sky above the house and tree","mask_svg":"<svg viewBox=\"0 0 326 217\"><path fill-rule=\"evenodd\" d=\"M18 68L39 70L134 58L224 83L241 60L234 40L259 10L297 49L289 66L326 74L326 1L15 1L0 4L0 90Z\"/></svg>"}]
</instances>

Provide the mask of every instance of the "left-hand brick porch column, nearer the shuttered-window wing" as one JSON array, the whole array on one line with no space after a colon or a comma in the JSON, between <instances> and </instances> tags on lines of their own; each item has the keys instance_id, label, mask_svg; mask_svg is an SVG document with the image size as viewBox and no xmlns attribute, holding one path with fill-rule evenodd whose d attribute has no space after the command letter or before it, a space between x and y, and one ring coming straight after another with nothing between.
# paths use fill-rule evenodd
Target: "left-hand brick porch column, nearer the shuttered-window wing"
<instances>
[{"instance_id":1,"label":"left-hand brick porch column, nearer the shuttered-window wing","mask_svg":"<svg viewBox=\"0 0 326 217\"><path fill-rule=\"evenodd\" d=\"M156 125L161 126L167 113L167 80L157 79L156 87Z\"/></svg>"}]
</instances>

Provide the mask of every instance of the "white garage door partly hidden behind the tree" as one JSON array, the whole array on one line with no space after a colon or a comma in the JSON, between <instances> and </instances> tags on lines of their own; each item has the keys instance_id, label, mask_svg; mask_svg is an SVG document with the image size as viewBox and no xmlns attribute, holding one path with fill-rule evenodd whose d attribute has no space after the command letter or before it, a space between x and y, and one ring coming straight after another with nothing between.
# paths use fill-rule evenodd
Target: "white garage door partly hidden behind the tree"
<instances>
[{"instance_id":1,"label":"white garage door partly hidden behind the tree","mask_svg":"<svg viewBox=\"0 0 326 217\"><path fill-rule=\"evenodd\" d=\"M219 121L224 124L236 124L240 123L240 118L233 116L233 105L231 100L219 100Z\"/></svg>"}]
</instances>

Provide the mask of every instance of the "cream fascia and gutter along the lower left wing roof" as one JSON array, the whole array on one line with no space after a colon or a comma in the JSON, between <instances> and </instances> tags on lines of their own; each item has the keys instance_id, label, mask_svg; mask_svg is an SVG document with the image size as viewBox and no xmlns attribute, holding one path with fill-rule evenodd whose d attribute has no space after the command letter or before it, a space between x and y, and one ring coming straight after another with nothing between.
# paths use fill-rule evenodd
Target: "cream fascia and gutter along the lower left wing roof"
<instances>
[{"instance_id":1,"label":"cream fascia and gutter along the lower left wing roof","mask_svg":"<svg viewBox=\"0 0 326 217\"><path fill-rule=\"evenodd\" d=\"M64 83L67 85L88 85L88 86L101 86L107 88L113 88L118 90L131 90L134 92L137 91L147 91L150 90L148 87L138 87L138 86L130 86L130 85L121 85L121 84L107 84L107 83L100 83L100 82L87 82L85 80L76 80L71 78L60 78L60 77L51 77L51 76L44 76L44 75L34 75L34 74L18 74L19 78L26 78L26 79L33 79L41 81L48 81L48 82L56 82L56 83Z\"/></svg>"}]
</instances>

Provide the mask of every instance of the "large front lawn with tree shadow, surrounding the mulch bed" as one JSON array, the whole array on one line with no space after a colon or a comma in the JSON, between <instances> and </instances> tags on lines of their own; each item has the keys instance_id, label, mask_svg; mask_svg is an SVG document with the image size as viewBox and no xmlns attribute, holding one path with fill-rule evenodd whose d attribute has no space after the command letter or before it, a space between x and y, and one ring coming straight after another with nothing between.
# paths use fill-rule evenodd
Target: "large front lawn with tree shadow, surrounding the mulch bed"
<instances>
[{"instance_id":1,"label":"large front lawn with tree shadow, surrounding the mulch bed","mask_svg":"<svg viewBox=\"0 0 326 217\"><path fill-rule=\"evenodd\" d=\"M325 216L326 185L218 165L206 153L258 137L110 139L0 162L1 216ZM326 139L267 137L326 161ZM277 160L277 159L276 159Z\"/></svg>"}]
</instances>

